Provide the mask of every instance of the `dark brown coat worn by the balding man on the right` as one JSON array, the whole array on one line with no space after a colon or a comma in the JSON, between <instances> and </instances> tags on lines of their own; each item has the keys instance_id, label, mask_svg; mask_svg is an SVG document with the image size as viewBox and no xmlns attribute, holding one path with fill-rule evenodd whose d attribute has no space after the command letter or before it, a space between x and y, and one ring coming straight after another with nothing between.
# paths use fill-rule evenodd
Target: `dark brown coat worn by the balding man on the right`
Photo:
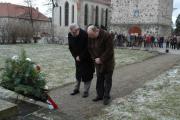
<instances>
[{"instance_id":1,"label":"dark brown coat worn by the balding man on the right","mask_svg":"<svg viewBox=\"0 0 180 120\"><path fill-rule=\"evenodd\" d=\"M88 48L93 59L100 58L102 61L100 65L95 64L97 72L112 72L114 70L113 38L108 32L100 29L98 38L89 38Z\"/></svg>"}]
</instances>

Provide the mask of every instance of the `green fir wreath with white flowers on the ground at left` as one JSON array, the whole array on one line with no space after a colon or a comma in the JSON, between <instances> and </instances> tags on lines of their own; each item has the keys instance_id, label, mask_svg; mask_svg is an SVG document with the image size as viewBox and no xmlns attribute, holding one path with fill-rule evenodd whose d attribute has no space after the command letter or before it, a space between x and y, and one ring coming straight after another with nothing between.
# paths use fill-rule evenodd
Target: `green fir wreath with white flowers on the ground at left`
<instances>
[{"instance_id":1,"label":"green fir wreath with white flowers on the ground at left","mask_svg":"<svg viewBox=\"0 0 180 120\"><path fill-rule=\"evenodd\" d=\"M39 65L26 57L22 50L21 56L13 56L6 60L0 85L35 100L46 101L44 92L46 85L45 74Z\"/></svg>"}]
</instances>

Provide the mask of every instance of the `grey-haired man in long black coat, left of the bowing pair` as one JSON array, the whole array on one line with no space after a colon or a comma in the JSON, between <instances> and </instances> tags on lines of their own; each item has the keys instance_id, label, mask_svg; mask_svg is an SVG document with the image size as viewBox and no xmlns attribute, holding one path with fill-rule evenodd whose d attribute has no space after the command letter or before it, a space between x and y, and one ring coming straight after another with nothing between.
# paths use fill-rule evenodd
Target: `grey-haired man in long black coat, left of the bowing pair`
<instances>
[{"instance_id":1,"label":"grey-haired man in long black coat, left of the bowing pair","mask_svg":"<svg viewBox=\"0 0 180 120\"><path fill-rule=\"evenodd\" d=\"M83 97L88 97L93 79L94 63L88 51L88 35L77 24L70 25L68 34L69 50L75 60L76 85L71 95L79 93L80 83L84 82Z\"/></svg>"}]
</instances>

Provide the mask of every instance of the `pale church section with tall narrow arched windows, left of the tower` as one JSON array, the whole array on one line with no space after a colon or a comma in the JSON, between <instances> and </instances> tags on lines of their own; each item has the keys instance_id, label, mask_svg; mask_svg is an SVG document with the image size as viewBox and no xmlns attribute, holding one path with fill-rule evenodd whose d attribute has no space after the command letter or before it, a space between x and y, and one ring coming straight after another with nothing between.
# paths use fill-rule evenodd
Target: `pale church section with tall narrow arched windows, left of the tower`
<instances>
[{"instance_id":1,"label":"pale church section with tall narrow arched windows, left of the tower","mask_svg":"<svg viewBox=\"0 0 180 120\"><path fill-rule=\"evenodd\" d=\"M110 3L110 0L57 0L53 17L55 35L67 36L71 23L78 23L83 29L89 24L107 27Z\"/></svg>"}]
</instances>

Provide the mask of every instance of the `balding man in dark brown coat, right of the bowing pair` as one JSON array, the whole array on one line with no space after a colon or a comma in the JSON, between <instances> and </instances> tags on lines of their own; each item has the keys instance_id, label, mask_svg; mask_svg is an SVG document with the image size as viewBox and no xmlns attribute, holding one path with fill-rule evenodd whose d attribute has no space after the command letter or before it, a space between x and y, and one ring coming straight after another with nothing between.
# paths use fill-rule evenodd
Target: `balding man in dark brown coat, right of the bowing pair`
<instances>
[{"instance_id":1,"label":"balding man in dark brown coat, right of the bowing pair","mask_svg":"<svg viewBox=\"0 0 180 120\"><path fill-rule=\"evenodd\" d=\"M97 83L97 97L94 102L103 100L104 105L110 102L112 75L115 66L112 36L95 26L88 27L88 47L91 57L95 61Z\"/></svg>"}]
</instances>

